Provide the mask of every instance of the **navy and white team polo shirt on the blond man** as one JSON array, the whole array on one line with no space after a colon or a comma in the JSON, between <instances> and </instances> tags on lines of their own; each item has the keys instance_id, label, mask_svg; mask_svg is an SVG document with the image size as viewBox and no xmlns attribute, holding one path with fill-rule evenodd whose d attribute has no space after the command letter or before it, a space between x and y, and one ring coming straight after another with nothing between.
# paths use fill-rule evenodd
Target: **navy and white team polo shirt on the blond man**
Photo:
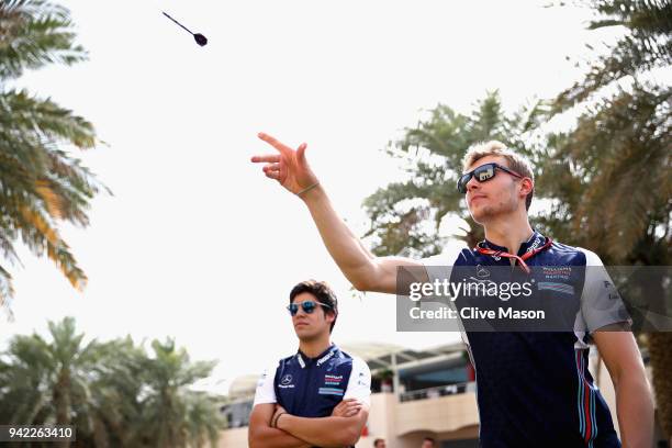
<instances>
[{"instance_id":1,"label":"navy and white team polo shirt on the blond man","mask_svg":"<svg viewBox=\"0 0 672 448\"><path fill-rule=\"evenodd\" d=\"M517 255L546 242L535 232ZM488 240L482 245L507 251ZM491 266L511 267L508 258L475 249L441 254L423 264L432 282L459 282L463 271L475 269L475 277ZM541 277L535 279L535 300L564 303L575 325L562 332L483 332L462 321L477 374L481 446L619 447L609 410L587 369L591 333L629 320L623 302L614 300L608 273L594 253L556 242L526 264L530 273L518 267L508 271ZM460 306L459 298L453 305Z\"/></svg>"}]
</instances>

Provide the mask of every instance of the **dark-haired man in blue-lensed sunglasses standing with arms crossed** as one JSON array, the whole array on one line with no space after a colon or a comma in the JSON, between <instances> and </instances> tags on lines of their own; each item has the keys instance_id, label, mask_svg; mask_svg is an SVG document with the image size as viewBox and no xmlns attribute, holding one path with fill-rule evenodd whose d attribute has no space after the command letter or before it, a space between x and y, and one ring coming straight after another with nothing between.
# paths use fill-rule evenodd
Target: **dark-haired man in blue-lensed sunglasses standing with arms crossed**
<instances>
[{"instance_id":1,"label":"dark-haired man in blue-lensed sunglasses standing with arms crossed","mask_svg":"<svg viewBox=\"0 0 672 448\"><path fill-rule=\"evenodd\" d=\"M369 415L371 372L329 341L338 301L324 282L296 284L288 310L299 351L267 369L249 419L249 446L354 446Z\"/></svg>"}]
</instances>

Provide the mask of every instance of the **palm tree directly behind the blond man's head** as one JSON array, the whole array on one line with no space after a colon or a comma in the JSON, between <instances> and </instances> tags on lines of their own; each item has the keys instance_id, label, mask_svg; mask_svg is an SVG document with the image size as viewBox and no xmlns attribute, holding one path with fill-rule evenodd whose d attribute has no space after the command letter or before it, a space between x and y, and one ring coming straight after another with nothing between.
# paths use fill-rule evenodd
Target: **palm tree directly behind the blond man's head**
<instances>
[{"instance_id":1,"label":"palm tree directly behind the blond man's head","mask_svg":"<svg viewBox=\"0 0 672 448\"><path fill-rule=\"evenodd\" d=\"M467 216L468 226L459 237L468 245L481 240L482 228L468 216L463 195L456 189L462 157L470 145L489 139L499 139L535 157L524 135L538 125L544 112L544 103L536 102L507 116L499 93L493 91L477 103L470 115L439 104L417 126L405 128L400 141L389 144L388 154L405 165L410 180L390 183L363 203L371 220L365 236L373 237L373 253L423 257L438 254L445 244L438 228L447 214Z\"/></svg>"}]
</instances>

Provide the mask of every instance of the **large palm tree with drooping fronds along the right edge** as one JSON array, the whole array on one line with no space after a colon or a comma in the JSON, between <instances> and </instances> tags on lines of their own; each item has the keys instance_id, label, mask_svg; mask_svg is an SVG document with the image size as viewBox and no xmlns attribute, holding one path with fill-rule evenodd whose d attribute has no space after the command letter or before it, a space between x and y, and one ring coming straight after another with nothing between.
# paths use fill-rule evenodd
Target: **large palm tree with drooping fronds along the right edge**
<instances>
[{"instance_id":1,"label":"large palm tree with drooping fronds along the right edge","mask_svg":"<svg viewBox=\"0 0 672 448\"><path fill-rule=\"evenodd\" d=\"M608 262L670 266L672 87L657 82L652 70L669 75L672 66L672 1L587 4L598 14L591 29L619 26L625 33L555 101L555 113L575 107L585 112L574 130L550 138L556 152L548 178L563 201L546 217L556 228L568 228L569 222L576 244ZM648 305L671 315L670 294L660 291L647 298ZM649 348L658 417L672 439L672 333L649 333L642 340Z\"/></svg>"}]
</instances>

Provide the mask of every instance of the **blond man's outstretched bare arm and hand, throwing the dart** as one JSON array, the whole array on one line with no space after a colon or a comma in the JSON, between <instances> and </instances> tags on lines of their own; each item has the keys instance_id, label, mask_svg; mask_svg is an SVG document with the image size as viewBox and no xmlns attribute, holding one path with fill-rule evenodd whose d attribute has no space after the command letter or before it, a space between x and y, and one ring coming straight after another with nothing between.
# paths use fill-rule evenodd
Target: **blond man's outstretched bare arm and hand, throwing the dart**
<instances>
[{"instance_id":1,"label":"blond man's outstretched bare arm and hand, throwing the dart","mask_svg":"<svg viewBox=\"0 0 672 448\"><path fill-rule=\"evenodd\" d=\"M305 158L306 144L295 150L267 134L259 134L278 154L255 156L254 163L266 163L264 172L307 205L322 240L338 268L360 291L394 293L397 266L422 266L402 257L376 257L338 216L329 198ZM425 280L425 279L421 279Z\"/></svg>"}]
</instances>

